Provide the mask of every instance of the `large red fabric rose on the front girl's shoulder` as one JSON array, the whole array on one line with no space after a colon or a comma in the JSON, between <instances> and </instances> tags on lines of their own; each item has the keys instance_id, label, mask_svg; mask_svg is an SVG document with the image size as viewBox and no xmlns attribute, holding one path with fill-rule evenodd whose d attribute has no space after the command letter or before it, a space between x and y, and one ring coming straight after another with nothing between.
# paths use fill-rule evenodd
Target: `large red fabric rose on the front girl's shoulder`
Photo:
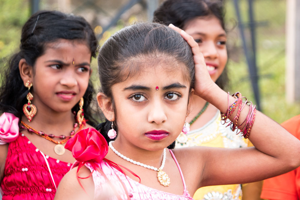
<instances>
[{"instance_id":1,"label":"large red fabric rose on the front girl's shoulder","mask_svg":"<svg viewBox=\"0 0 300 200\"><path fill-rule=\"evenodd\" d=\"M94 160L101 162L108 152L105 138L94 128L80 130L69 139L64 148L72 151L78 162Z\"/></svg>"}]
</instances>

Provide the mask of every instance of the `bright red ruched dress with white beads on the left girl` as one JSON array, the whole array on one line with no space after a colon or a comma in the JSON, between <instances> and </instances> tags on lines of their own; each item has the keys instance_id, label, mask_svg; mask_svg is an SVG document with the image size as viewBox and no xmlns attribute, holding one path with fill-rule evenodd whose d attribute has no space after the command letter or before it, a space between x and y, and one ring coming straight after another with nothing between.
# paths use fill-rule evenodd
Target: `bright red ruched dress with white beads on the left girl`
<instances>
[{"instance_id":1,"label":"bright red ruched dress with white beads on the left girl","mask_svg":"<svg viewBox=\"0 0 300 200\"><path fill-rule=\"evenodd\" d=\"M2 200L54 199L55 187L58 187L71 165L43 155L21 133L16 140L9 143L4 178L1 182Z\"/></svg>"}]
</instances>

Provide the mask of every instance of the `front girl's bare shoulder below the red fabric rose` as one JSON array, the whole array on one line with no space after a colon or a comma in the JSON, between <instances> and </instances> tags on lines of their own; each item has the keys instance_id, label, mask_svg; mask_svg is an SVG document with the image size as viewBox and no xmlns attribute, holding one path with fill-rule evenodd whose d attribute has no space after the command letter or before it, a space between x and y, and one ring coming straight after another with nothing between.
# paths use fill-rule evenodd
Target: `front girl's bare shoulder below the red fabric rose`
<instances>
[{"instance_id":1,"label":"front girl's bare shoulder below the red fabric rose","mask_svg":"<svg viewBox=\"0 0 300 200\"><path fill-rule=\"evenodd\" d=\"M67 172L66 175L61 179L56 194L55 200L59 199L94 199L95 185L92 176L88 177L91 171L83 166L79 169L78 176L80 178L79 184L76 178L77 168L75 167ZM85 178L88 177L88 178Z\"/></svg>"}]
</instances>

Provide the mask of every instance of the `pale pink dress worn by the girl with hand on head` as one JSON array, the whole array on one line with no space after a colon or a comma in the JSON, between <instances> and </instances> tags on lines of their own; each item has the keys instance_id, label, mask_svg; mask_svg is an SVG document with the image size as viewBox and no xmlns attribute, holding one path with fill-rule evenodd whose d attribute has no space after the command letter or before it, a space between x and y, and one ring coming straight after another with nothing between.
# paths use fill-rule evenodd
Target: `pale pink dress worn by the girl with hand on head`
<instances>
[{"instance_id":1,"label":"pale pink dress worn by the girl with hand on head","mask_svg":"<svg viewBox=\"0 0 300 200\"><path fill-rule=\"evenodd\" d=\"M104 174L108 178L108 180L112 183L114 186L114 189L117 193L121 194L122 199L127 199L124 187L122 183L125 185L125 188L128 192L128 195L131 200L141 200L141 199L170 199L170 200L183 200L183 199L193 199L190 197L190 194L187 191L184 177L182 175L182 171L180 169L180 166L173 154L173 152L170 150L170 153L172 154L172 157L174 161L176 162L176 165L179 169L182 182L184 185L183 188L183 195L175 195L167 192L163 192L160 190L156 190L150 187L147 187L143 184L140 184L137 181L132 180L128 176L121 173L119 170L117 170L114 167L111 167L107 162L101 161L100 163L97 163L98 166L103 170ZM93 171L93 168L91 167L91 164L87 163L85 164L91 171ZM117 196L114 195L115 191L110 187L110 185L107 183L106 178L104 178L103 175L101 175L100 172L94 171L92 173L93 180L95 183L95 198L94 199L117 199ZM120 182L122 181L122 183Z\"/></svg>"}]
</instances>

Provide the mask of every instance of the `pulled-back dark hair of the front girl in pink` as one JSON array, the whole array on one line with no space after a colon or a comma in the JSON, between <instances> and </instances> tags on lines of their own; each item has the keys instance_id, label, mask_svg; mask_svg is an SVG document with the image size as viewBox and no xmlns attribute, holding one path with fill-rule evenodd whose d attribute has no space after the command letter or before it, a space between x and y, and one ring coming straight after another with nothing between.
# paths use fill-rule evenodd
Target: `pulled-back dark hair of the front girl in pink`
<instances>
[{"instance_id":1,"label":"pulled-back dark hair of the front girl in pink","mask_svg":"<svg viewBox=\"0 0 300 200\"><path fill-rule=\"evenodd\" d=\"M173 29L158 23L138 23L121 29L104 43L99 50L98 71L101 92L112 100L112 106L112 85L139 73L141 66L138 61L143 58L152 61L161 56L184 64L183 76L190 82L191 90L195 73L193 54L187 42ZM107 137L110 126L111 122L106 120L97 127L108 142L112 140Z\"/></svg>"}]
</instances>

